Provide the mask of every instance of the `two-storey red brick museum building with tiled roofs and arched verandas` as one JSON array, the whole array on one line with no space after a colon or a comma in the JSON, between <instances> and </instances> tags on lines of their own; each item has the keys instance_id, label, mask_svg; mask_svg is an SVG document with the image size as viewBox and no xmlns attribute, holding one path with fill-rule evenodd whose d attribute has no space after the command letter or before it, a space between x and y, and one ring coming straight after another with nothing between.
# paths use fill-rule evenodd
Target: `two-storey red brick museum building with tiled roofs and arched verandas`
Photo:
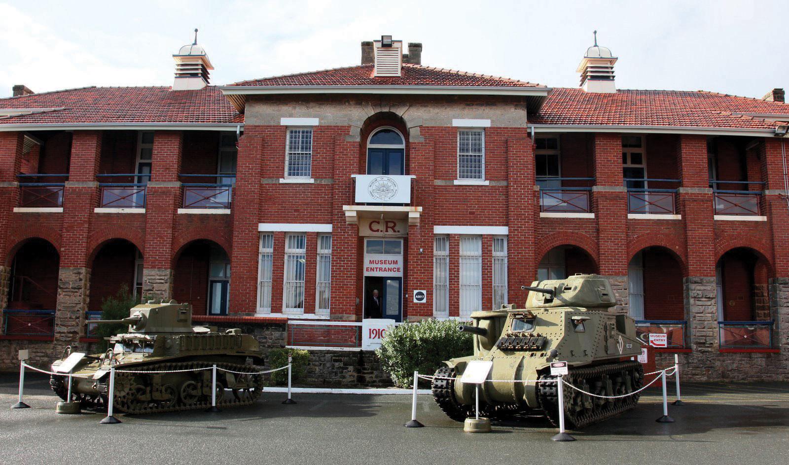
<instances>
[{"instance_id":1,"label":"two-storey red brick museum building with tiled roofs and arched verandas","mask_svg":"<svg viewBox=\"0 0 789 465\"><path fill-rule=\"evenodd\" d=\"M421 49L384 36L360 66L213 86L191 44L171 88L17 86L0 99L4 366L90 343L122 284L335 347L363 317L462 318L596 272L695 377L787 376L783 90L620 90L596 46L579 88L549 88Z\"/></svg>"}]
</instances>

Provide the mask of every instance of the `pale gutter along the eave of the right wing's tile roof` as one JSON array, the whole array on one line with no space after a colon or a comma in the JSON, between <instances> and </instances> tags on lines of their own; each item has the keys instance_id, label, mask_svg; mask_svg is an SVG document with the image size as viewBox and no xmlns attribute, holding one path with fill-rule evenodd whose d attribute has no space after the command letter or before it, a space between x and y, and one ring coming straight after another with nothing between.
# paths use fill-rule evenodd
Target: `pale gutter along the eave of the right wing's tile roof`
<instances>
[{"instance_id":1,"label":"pale gutter along the eave of the right wing's tile roof","mask_svg":"<svg viewBox=\"0 0 789 465\"><path fill-rule=\"evenodd\" d=\"M775 129L700 128L694 126L611 126L611 125L529 125L540 133L656 133L698 134L705 136L772 137Z\"/></svg>"}]
</instances>

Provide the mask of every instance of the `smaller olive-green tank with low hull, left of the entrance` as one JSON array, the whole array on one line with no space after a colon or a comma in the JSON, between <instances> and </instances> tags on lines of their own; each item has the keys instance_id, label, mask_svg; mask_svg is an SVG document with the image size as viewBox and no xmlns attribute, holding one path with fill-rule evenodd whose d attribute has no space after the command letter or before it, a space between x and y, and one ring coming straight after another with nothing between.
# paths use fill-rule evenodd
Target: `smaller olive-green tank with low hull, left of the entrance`
<instances>
[{"instance_id":1,"label":"smaller olive-green tank with low hull, left of the entrance","mask_svg":"<svg viewBox=\"0 0 789 465\"><path fill-rule=\"evenodd\" d=\"M103 354L84 355L73 368L72 399L68 397L68 377L52 375L50 386L64 400L80 402L84 407L107 403L110 362L115 366L114 404L117 411L148 414L190 410L211 405L211 367L238 373L216 372L216 405L245 405L254 402L263 391L263 358L255 338L240 329L224 333L216 328L192 326L192 309L175 301L135 306L123 320L92 323L129 324L125 334L110 337L110 348ZM67 347L52 371L64 364L71 354ZM69 364L74 359L69 361ZM140 373L118 373L133 370ZM66 370L67 371L67 370ZM170 371L174 373L146 373ZM232 389L232 394L225 389Z\"/></svg>"}]
</instances>

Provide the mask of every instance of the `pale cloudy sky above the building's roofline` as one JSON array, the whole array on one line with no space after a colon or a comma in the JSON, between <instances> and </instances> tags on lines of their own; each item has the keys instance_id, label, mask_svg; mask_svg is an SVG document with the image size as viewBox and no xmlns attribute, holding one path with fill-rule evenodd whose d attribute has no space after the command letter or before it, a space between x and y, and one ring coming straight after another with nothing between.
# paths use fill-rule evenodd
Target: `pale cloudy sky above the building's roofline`
<instances>
[{"instance_id":1,"label":"pale cloudy sky above the building's roofline","mask_svg":"<svg viewBox=\"0 0 789 465\"><path fill-rule=\"evenodd\" d=\"M617 88L761 97L789 88L786 0L660 2L2 2L0 97L13 84L171 85L193 40L211 84L353 66L360 42L423 44L422 64L578 87L586 47L615 56Z\"/></svg>"}]
</instances>

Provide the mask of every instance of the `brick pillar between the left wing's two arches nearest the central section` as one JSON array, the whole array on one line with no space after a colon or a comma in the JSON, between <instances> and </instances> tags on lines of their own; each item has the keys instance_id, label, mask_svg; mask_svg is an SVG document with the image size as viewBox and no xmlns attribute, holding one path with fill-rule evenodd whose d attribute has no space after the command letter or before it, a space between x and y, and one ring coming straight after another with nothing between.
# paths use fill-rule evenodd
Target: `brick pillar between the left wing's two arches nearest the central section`
<instances>
[{"instance_id":1,"label":"brick pillar between the left wing's two arches nearest the central section","mask_svg":"<svg viewBox=\"0 0 789 465\"><path fill-rule=\"evenodd\" d=\"M180 206L183 133L156 131L151 156L151 181L145 193L143 295L172 298L173 227Z\"/></svg>"}]
</instances>

